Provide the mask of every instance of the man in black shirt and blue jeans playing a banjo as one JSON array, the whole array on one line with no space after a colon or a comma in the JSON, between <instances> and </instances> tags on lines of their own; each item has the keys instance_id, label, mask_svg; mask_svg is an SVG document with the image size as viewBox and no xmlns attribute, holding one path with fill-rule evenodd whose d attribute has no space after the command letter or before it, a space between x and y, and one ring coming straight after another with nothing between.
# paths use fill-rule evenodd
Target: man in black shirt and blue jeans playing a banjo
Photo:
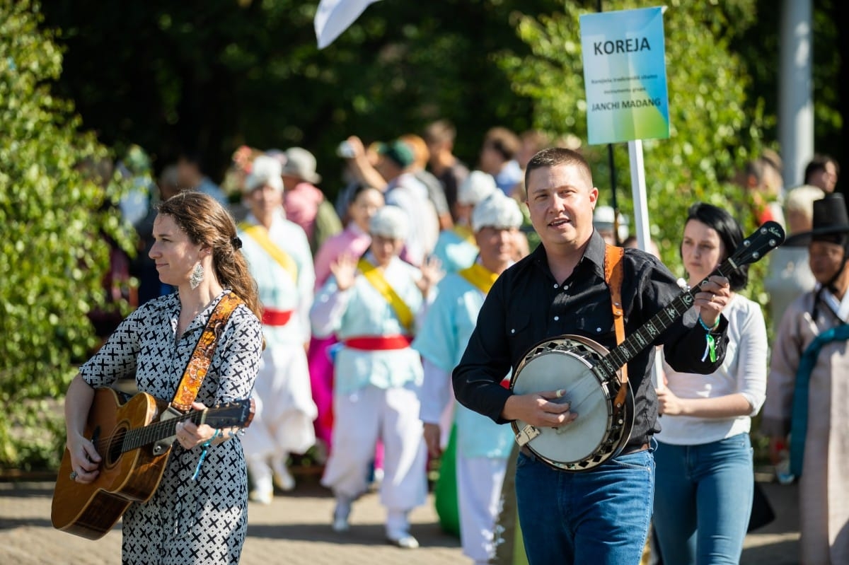
<instances>
[{"instance_id":1,"label":"man in black shirt and blue jeans playing a banjo","mask_svg":"<svg viewBox=\"0 0 849 565\"><path fill-rule=\"evenodd\" d=\"M592 357L585 351L593 353L582 345L585 342L612 350L621 342L616 322L621 321L622 310L624 334L638 332L681 290L676 277L659 260L639 249L624 251L618 264L620 278L609 283L605 272L605 254L609 252L599 233L593 231L599 189L593 187L590 167L580 154L565 148L543 149L528 163L525 181L526 204L542 244L504 271L487 294L475 331L454 369L454 391L464 406L495 422L526 424L517 437L524 446L517 462L515 489L531 565L636 564L643 552L654 497L655 463L649 442L652 434L660 431L657 397L649 378L655 348L646 344L633 355L622 371L630 378L627 383L621 378L626 383L621 387L582 369L577 371L582 373L579 378L570 380L564 374L562 386L542 388L542 383L556 382L551 376L553 368L568 373L573 367L541 363L548 369L540 377L541 388L534 388L533 356L536 350L542 357L546 348L562 349L581 361ZM621 295L621 306L611 294ZM673 311L663 331L649 327L654 336L651 344L665 345L666 361L678 371L714 371L725 354L728 321L720 314L729 296L728 279L710 277L692 294L695 308L689 308L683 317ZM558 340L559 336L564 339ZM538 347L546 340L546 347ZM591 361L573 365L590 366ZM513 390L501 386L511 369ZM531 383L520 383L524 377ZM599 392L593 393L593 386ZM587 400L593 394L598 398L616 395L618 389L628 386L627 411ZM518 390L532 392L518 394ZM617 395L616 406L621 406L623 396ZM599 411L600 417L595 413ZM613 417L604 416L608 414ZM567 453L563 459L569 463L565 465L553 465L548 458L537 456L535 445L553 441L562 441L568 451L575 440L570 438L570 430L581 436L575 443L586 443L585 436L598 426L584 422L607 422L603 428L621 430L623 415L633 417L633 428L626 426L627 432L621 434L624 445L606 455L602 449L587 461L575 462ZM534 434L543 432L548 435L535 442ZM590 439L590 443L610 445L601 435L598 442ZM543 444L543 439L548 443Z\"/></svg>"}]
</instances>

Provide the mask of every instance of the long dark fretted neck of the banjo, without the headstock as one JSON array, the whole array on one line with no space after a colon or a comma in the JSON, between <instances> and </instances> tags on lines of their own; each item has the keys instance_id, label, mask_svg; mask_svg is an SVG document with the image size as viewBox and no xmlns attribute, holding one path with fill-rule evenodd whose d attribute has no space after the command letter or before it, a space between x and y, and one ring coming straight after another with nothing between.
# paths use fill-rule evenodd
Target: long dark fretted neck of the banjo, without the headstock
<instances>
[{"instance_id":1,"label":"long dark fretted neck of the banjo, without the headstock","mask_svg":"<svg viewBox=\"0 0 849 565\"><path fill-rule=\"evenodd\" d=\"M628 361L631 361L641 351L647 349L651 344L655 343L655 339L665 332L673 323L677 322L684 313L693 307L695 294L700 292L700 288L713 275L720 277L728 277L728 275L739 268L733 260L726 259L722 265L717 267L710 276L704 278L699 284L693 288L684 290L678 294L669 305L661 308L655 316L645 322L643 327L640 327L636 332L625 339L621 344L610 350L607 355L599 361L595 366L599 377L606 379L613 378L620 367L625 366Z\"/></svg>"}]
</instances>

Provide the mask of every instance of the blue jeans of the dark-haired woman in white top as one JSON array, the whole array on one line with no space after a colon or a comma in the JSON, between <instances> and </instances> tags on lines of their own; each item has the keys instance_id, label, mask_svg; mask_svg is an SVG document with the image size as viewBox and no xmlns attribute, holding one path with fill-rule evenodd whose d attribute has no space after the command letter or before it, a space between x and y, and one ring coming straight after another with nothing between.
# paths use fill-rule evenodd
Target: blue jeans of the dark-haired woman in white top
<instances>
[{"instance_id":1,"label":"blue jeans of the dark-haired woman in white top","mask_svg":"<svg viewBox=\"0 0 849 565\"><path fill-rule=\"evenodd\" d=\"M754 490L749 434L703 445L660 443L655 531L664 563L738 563Z\"/></svg>"}]
</instances>

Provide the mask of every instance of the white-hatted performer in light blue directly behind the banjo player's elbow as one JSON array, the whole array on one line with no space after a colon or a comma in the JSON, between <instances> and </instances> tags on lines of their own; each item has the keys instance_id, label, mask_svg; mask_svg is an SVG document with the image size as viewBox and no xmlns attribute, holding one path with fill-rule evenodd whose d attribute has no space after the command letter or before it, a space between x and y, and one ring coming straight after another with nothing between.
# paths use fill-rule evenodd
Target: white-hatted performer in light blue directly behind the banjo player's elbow
<instances>
[{"instance_id":1,"label":"white-hatted performer in light blue directly behind the banjo player's elbow","mask_svg":"<svg viewBox=\"0 0 849 565\"><path fill-rule=\"evenodd\" d=\"M440 422L447 409L453 409L456 439L452 445L456 445L456 470L441 465L440 473L456 473L453 477L456 489L451 497L453 512L459 511L463 553L475 565L490 562L495 554L493 529L500 510L507 458L513 448L513 431L458 405L454 400L451 372L463 356L478 310L492 283L514 263L515 236L521 222L519 204L500 191L475 205L471 227L480 255L473 265L439 282L436 299L413 341L413 349L419 351L424 361L421 419L431 457L442 455L451 423L447 426L449 430L445 430L440 428ZM509 379L509 374L504 378ZM437 505L437 510L439 507Z\"/></svg>"}]
</instances>

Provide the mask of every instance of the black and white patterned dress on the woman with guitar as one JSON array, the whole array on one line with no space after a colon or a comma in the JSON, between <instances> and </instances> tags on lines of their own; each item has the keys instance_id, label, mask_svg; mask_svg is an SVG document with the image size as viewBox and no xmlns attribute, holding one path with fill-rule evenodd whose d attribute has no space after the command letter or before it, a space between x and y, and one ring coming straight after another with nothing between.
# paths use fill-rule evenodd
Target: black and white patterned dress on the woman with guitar
<instances>
[{"instance_id":1,"label":"black and white patterned dress on the woman with guitar","mask_svg":"<svg viewBox=\"0 0 849 565\"><path fill-rule=\"evenodd\" d=\"M228 291L224 291L225 293ZM214 299L177 336L180 301L169 294L145 303L80 369L93 387L136 376L138 389L171 400L212 310ZM259 369L262 329L245 305L230 316L197 400L206 406L250 396ZM123 517L122 561L150 565L237 563L248 529L248 484L239 439L211 447L192 480L201 448L174 442L159 489Z\"/></svg>"}]
</instances>

